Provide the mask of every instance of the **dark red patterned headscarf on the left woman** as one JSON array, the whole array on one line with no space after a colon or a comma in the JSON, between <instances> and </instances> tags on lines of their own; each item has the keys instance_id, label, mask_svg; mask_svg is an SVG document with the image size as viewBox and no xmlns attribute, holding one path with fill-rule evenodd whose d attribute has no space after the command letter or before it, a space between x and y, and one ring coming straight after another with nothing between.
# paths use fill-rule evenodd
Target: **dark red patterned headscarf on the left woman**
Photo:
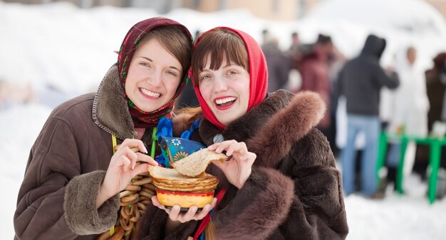
<instances>
[{"instance_id":1,"label":"dark red patterned headscarf on the left woman","mask_svg":"<svg viewBox=\"0 0 446 240\"><path fill-rule=\"evenodd\" d=\"M130 61L132 60L133 53L135 53L136 51L138 42L147 34L147 32L157 26L180 26L181 28L185 29L188 38L190 38L192 41L192 35L190 34L189 30L187 30L187 28L182 24L171 19L157 17L152 19L145 19L143 21L140 21L138 24L135 24L132 28L130 28L127 35L125 36L118 55L119 78L121 80L121 83L123 83L124 91L127 71L130 66ZM133 102L129 98L127 98L129 105L128 109L130 110L130 115L132 116L133 124L135 125L135 127L152 127L153 125L157 125L158 120L160 120L160 118L162 118L163 116L165 116L166 118L170 118L173 106L175 105L175 100L182 92L186 83L187 80L185 78L182 78L180 85L177 88L177 92L175 93L172 100L170 100L169 103L162 106L161 108L150 113L140 110L135 104L133 104ZM125 95L127 96L127 93Z\"/></svg>"}]
</instances>

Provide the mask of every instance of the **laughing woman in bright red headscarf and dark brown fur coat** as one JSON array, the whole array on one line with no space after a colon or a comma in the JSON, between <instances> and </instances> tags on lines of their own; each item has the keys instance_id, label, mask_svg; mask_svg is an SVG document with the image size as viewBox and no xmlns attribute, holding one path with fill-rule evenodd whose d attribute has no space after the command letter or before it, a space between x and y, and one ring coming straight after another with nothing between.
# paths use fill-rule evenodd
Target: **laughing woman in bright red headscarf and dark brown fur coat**
<instances>
[{"instance_id":1,"label":"laughing woman in bright red headscarf and dark brown fur coat","mask_svg":"<svg viewBox=\"0 0 446 240\"><path fill-rule=\"evenodd\" d=\"M175 124L198 116L191 139L232 158L206 170L219 186L202 221L195 206L182 213L152 197L138 239L346 239L341 172L315 127L325 111L317 93L266 93L259 44L233 28L202 33L191 68L201 110L184 110Z\"/></svg>"}]
</instances>

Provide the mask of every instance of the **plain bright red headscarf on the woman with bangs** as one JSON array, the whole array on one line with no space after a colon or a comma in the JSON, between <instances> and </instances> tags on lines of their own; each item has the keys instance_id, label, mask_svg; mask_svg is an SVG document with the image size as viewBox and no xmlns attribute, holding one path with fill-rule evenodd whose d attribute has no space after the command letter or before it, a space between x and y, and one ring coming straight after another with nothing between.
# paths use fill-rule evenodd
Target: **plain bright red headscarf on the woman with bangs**
<instances>
[{"instance_id":1,"label":"plain bright red headscarf on the woman with bangs","mask_svg":"<svg viewBox=\"0 0 446 240\"><path fill-rule=\"evenodd\" d=\"M245 33L244 31L240 31L234 28L228 27L217 27L224 28L239 35L245 47L247 48L248 60L249 60L249 102L248 102L248 111L251 108L254 108L256 105L259 105L266 96L266 89L268 88L268 68L266 66L266 59L264 53L261 51L259 43L257 43L254 38ZM211 30L202 33L203 36L210 31L214 31L217 28L212 28ZM195 47L199 44L199 39L195 41ZM216 46L218 48L218 46ZM224 51L224 49L222 49ZM190 71L190 78L192 78L192 71ZM214 113L207 105L206 101L202 97L202 94L199 92L199 86L195 84L195 80L192 80L194 83L195 93L197 94L197 98L199 100L199 105L202 107L204 118L212 122L213 125L217 126L220 130L224 130L226 127L222 125L217 118L215 118Z\"/></svg>"}]
</instances>

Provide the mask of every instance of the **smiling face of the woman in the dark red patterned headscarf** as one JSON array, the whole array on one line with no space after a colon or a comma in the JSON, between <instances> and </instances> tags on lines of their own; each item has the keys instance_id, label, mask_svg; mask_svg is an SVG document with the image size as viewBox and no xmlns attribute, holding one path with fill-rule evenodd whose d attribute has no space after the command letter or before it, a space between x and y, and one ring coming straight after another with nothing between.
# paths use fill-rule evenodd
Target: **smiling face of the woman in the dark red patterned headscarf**
<instances>
[{"instance_id":1,"label":"smiling face of the woman in the dark red patterned headscarf","mask_svg":"<svg viewBox=\"0 0 446 240\"><path fill-rule=\"evenodd\" d=\"M145 112L172 100L182 77L182 66L156 38L142 42L130 62L125 93Z\"/></svg>"}]
</instances>

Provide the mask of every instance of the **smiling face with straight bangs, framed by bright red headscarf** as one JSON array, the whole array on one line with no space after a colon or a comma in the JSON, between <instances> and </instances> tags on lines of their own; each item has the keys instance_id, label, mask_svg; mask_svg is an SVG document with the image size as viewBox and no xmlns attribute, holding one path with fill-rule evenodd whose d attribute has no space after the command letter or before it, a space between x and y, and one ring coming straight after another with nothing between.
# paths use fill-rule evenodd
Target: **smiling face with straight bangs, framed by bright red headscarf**
<instances>
[{"instance_id":1,"label":"smiling face with straight bangs, framed by bright red headscarf","mask_svg":"<svg viewBox=\"0 0 446 240\"><path fill-rule=\"evenodd\" d=\"M210 67L211 56L207 57L206 63L198 74L199 92L215 118L227 126L247 113L249 72L237 64L228 65L226 58L217 70Z\"/></svg>"}]
</instances>

